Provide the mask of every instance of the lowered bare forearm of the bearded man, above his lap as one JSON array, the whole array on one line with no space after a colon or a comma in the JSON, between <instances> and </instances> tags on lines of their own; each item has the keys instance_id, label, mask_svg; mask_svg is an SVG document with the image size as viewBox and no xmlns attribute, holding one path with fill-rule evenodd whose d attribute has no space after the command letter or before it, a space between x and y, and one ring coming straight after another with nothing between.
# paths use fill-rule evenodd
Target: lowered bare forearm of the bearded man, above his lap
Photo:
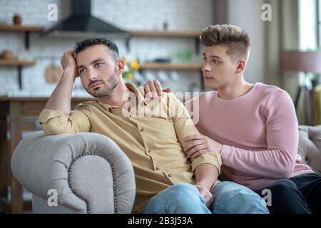
<instances>
[{"instance_id":1,"label":"lowered bare forearm of the bearded man, above his lap","mask_svg":"<svg viewBox=\"0 0 321 228\"><path fill-rule=\"evenodd\" d=\"M201 164L195 169L196 185L202 185L209 191L218 180L218 168L212 164Z\"/></svg>"}]
</instances>

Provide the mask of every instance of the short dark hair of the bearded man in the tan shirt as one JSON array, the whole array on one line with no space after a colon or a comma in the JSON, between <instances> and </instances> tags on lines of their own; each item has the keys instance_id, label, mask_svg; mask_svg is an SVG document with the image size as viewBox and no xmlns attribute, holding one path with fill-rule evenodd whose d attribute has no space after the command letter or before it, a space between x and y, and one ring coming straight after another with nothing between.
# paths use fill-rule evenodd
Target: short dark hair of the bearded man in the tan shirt
<instances>
[{"instance_id":1,"label":"short dark hair of the bearded man in the tan shirt","mask_svg":"<svg viewBox=\"0 0 321 228\"><path fill-rule=\"evenodd\" d=\"M103 44L107 46L109 50L111 50L111 56L114 60L119 58L119 51L116 43L108 38L86 38L83 41L77 42L74 49L76 53L79 53L81 51L85 51L87 48L91 46L98 44Z\"/></svg>"}]
</instances>

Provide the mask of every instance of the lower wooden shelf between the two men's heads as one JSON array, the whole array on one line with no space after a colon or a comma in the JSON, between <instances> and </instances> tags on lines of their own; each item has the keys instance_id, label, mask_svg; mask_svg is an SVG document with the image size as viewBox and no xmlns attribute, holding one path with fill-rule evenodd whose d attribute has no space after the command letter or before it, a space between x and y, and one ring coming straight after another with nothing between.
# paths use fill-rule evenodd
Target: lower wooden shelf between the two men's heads
<instances>
[{"instance_id":1,"label":"lower wooden shelf between the two men's heads","mask_svg":"<svg viewBox=\"0 0 321 228\"><path fill-rule=\"evenodd\" d=\"M201 63L140 63L141 70L200 70Z\"/></svg>"}]
</instances>

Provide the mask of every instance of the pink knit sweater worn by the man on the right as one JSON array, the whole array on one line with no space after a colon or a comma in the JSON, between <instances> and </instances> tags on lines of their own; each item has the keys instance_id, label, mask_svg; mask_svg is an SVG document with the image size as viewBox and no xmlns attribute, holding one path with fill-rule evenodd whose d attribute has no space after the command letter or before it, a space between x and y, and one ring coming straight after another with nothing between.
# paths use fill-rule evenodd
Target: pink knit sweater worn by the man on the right
<instances>
[{"instance_id":1,"label":"pink knit sweater worn by the man on the right","mask_svg":"<svg viewBox=\"0 0 321 228\"><path fill-rule=\"evenodd\" d=\"M280 178L312 172L297 155L297 118L285 90L256 83L235 99L223 100L215 91L198 98L196 127L223 144L221 180L257 190ZM189 108L193 103L196 107L195 100L185 105Z\"/></svg>"}]
</instances>

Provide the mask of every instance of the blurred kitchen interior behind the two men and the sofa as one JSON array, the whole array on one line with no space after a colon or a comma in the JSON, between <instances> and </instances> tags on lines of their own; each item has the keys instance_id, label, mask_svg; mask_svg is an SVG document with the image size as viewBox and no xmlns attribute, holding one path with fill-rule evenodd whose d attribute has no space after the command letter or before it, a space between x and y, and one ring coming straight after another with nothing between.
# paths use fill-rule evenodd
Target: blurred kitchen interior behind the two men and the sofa
<instances>
[{"instance_id":1,"label":"blurred kitchen interior behind the two men and the sofa","mask_svg":"<svg viewBox=\"0 0 321 228\"><path fill-rule=\"evenodd\" d=\"M30 200L21 206L11 153L41 129L37 115L61 77L61 56L76 41L116 41L125 81L136 86L157 79L173 92L202 92L200 31L240 26L251 39L246 81L286 90L299 124L320 125L320 21L321 0L0 0L0 213L31 207ZM77 79L73 103L89 96Z\"/></svg>"}]
</instances>

